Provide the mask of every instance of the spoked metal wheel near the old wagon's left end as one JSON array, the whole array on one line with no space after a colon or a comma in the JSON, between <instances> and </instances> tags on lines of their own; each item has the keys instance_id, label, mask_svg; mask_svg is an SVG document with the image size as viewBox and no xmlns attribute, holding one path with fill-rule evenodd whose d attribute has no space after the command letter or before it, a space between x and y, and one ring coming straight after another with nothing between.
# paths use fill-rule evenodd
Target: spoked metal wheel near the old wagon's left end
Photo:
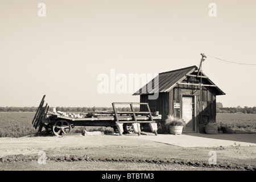
<instances>
[{"instance_id":1,"label":"spoked metal wheel near the old wagon's left end","mask_svg":"<svg viewBox=\"0 0 256 182\"><path fill-rule=\"evenodd\" d=\"M57 137L62 137L62 134L68 134L71 130L70 123L65 120L59 120L52 126L52 131Z\"/></svg>"}]
</instances>

